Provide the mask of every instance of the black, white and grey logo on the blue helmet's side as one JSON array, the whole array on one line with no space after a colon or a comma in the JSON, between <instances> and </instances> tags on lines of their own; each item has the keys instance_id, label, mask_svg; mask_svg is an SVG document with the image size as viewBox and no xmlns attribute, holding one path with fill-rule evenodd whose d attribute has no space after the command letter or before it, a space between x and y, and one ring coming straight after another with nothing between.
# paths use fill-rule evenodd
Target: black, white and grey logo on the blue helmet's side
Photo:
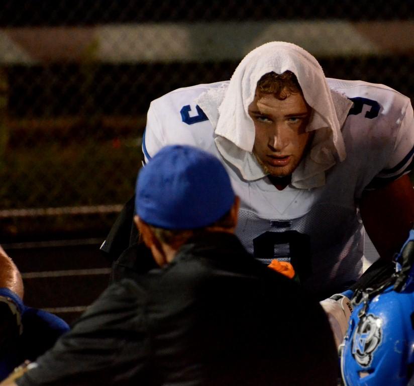
<instances>
[{"instance_id":1,"label":"black, white and grey logo on the blue helmet's side","mask_svg":"<svg viewBox=\"0 0 414 386\"><path fill-rule=\"evenodd\" d=\"M381 343L382 319L372 314L363 316L352 339L352 355L364 367L371 364L374 351Z\"/></svg>"}]
</instances>

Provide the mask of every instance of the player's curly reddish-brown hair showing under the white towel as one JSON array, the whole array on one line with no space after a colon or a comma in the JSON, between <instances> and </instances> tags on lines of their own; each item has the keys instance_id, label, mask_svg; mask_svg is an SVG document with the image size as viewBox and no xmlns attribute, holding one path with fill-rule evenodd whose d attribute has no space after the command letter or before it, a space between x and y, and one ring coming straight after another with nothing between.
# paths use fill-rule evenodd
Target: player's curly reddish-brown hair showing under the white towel
<instances>
[{"instance_id":1,"label":"player's curly reddish-brown hair showing under the white towel","mask_svg":"<svg viewBox=\"0 0 414 386\"><path fill-rule=\"evenodd\" d=\"M296 75L291 71L281 74L268 72L257 82L257 89L260 92L273 94L276 99L283 101L289 94L302 92Z\"/></svg>"}]
</instances>

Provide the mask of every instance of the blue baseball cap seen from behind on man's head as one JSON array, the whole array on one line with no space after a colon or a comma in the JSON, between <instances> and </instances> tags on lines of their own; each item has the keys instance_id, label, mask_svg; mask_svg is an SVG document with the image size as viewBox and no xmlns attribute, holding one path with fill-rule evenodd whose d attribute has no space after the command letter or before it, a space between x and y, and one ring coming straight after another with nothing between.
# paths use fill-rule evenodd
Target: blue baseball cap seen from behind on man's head
<instances>
[{"instance_id":1,"label":"blue baseball cap seen from behind on man's head","mask_svg":"<svg viewBox=\"0 0 414 386\"><path fill-rule=\"evenodd\" d=\"M233 206L235 194L218 158L193 146L169 145L141 168L135 211L164 229L213 224Z\"/></svg>"}]
</instances>

